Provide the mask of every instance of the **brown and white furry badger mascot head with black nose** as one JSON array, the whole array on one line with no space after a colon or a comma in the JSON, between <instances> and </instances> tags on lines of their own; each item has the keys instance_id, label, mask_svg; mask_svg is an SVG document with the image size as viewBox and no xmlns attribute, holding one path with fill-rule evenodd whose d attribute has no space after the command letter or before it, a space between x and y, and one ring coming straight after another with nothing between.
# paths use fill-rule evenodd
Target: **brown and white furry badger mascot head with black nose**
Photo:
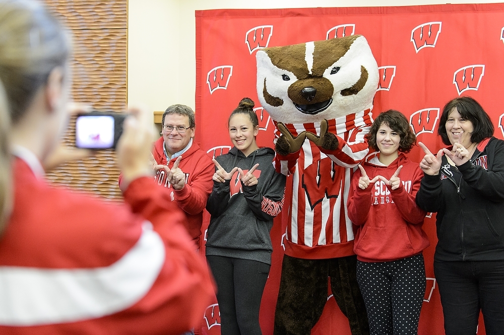
<instances>
[{"instance_id":1,"label":"brown and white furry badger mascot head with black nose","mask_svg":"<svg viewBox=\"0 0 504 335\"><path fill-rule=\"evenodd\" d=\"M309 123L372 107L378 65L361 35L259 50L259 101L275 121Z\"/></svg>"}]
</instances>

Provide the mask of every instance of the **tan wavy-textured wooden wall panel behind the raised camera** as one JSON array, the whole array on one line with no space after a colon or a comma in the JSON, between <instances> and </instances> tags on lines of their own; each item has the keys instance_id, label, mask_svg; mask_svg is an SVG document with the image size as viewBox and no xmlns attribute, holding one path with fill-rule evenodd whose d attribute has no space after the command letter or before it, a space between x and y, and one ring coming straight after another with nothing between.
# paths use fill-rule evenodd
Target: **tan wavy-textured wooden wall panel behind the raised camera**
<instances>
[{"instance_id":1,"label":"tan wavy-textured wooden wall panel behind the raised camera","mask_svg":"<svg viewBox=\"0 0 504 335\"><path fill-rule=\"evenodd\" d=\"M127 0L45 0L73 36L72 97L102 111L124 112L127 105ZM75 119L65 134L75 144ZM115 152L69 162L47 173L56 185L120 201Z\"/></svg>"}]
</instances>

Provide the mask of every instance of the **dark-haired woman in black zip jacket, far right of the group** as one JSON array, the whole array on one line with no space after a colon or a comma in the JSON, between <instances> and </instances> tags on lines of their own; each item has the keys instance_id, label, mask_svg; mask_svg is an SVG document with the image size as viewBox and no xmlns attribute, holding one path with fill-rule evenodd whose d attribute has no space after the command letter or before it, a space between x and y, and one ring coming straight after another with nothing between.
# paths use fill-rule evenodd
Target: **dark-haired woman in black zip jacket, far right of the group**
<instances>
[{"instance_id":1,"label":"dark-haired woman in black zip jacket, far right of the group","mask_svg":"<svg viewBox=\"0 0 504 335\"><path fill-rule=\"evenodd\" d=\"M434 274L447 335L475 334L480 310L487 335L504 329L504 141L470 97L450 101L437 133L450 145L425 152L416 203L437 212Z\"/></svg>"}]
</instances>

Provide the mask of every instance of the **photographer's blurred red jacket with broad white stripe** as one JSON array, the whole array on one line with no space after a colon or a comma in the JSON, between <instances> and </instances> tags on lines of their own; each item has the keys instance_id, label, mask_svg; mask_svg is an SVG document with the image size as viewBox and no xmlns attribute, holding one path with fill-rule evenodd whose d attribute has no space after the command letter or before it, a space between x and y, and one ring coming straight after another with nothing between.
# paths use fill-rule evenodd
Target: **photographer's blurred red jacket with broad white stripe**
<instances>
[{"instance_id":1,"label":"photographer's blurred red jacket with broad white stripe","mask_svg":"<svg viewBox=\"0 0 504 335\"><path fill-rule=\"evenodd\" d=\"M178 335L201 322L214 287L167 189L138 178L113 204L50 187L33 154L13 169L0 333Z\"/></svg>"}]
</instances>

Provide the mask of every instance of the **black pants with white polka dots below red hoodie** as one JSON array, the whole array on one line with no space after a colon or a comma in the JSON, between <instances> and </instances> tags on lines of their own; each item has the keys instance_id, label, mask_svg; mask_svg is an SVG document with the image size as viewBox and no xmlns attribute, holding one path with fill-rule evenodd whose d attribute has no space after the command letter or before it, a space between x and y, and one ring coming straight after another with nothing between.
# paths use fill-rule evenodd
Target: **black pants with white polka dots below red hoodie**
<instances>
[{"instance_id":1,"label":"black pants with white polka dots below red hoodie","mask_svg":"<svg viewBox=\"0 0 504 335\"><path fill-rule=\"evenodd\" d=\"M357 282L371 335L416 335L425 294L423 255L392 262L357 261Z\"/></svg>"}]
</instances>

